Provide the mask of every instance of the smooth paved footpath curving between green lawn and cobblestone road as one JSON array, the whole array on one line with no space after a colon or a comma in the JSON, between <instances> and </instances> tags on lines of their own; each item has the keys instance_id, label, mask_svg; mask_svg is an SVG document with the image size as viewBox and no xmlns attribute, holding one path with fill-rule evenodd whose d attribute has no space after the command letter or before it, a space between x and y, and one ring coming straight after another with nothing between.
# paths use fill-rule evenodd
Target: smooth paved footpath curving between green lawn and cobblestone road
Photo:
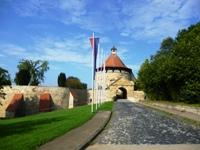
<instances>
[{"instance_id":1,"label":"smooth paved footpath curving between green lawn and cobblestone road","mask_svg":"<svg viewBox=\"0 0 200 150\"><path fill-rule=\"evenodd\" d=\"M39 150L79 150L85 148L106 126L111 111L98 112L91 120L63 136L42 145Z\"/></svg>"}]
</instances>

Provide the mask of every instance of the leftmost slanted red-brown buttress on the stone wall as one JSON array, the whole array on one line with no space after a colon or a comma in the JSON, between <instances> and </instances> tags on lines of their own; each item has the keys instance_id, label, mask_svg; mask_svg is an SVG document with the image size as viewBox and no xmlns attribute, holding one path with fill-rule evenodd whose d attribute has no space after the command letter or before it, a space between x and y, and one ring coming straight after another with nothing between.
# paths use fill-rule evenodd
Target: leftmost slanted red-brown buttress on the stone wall
<instances>
[{"instance_id":1,"label":"leftmost slanted red-brown buttress on the stone wall","mask_svg":"<svg viewBox=\"0 0 200 150\"><path fill-rule=\"evenodd\" d=\"M6 111L15 112L17 109L21 107L21 105L23 104L23 100L24 100L23 94L21 93L15 94L12 98L12 101L6 108Z\"/></svg>"}]
</instances>

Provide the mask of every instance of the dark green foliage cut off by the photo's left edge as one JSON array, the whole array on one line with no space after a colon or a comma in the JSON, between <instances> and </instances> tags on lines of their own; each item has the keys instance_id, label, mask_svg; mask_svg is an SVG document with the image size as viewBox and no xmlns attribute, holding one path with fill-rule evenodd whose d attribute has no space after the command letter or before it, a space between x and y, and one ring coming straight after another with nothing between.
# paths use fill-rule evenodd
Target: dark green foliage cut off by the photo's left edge
<instances>
[{"instance_id":1,"label":"dark green foliage cut off by the photo's left edge","mask_svg":"<svg viewBox=\"0 0 200 150\"><path fill-rule=\"evenodd\" d=\"M8 71L0 67L0 98L5 97L5 93L3 92L3 85L11 85L11 81Z\"/></svg>"}]
</instances>

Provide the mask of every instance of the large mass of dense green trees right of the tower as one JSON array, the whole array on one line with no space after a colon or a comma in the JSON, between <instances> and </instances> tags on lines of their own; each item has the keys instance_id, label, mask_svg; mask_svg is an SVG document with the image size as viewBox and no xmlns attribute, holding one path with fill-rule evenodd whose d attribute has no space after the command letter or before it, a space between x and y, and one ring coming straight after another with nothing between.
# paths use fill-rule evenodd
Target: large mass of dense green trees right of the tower
<instances>
[{"instance_id":1,"label":"large mass of dense green trees right of the tower","mask_svg":"<svg viewBox=\"0 0 200 150\"><path fill-rule=\"evenodd\" d=\"M164 39L141 66L137 86L151 99L200 103L200 23Z\"/></svg>"}]
</instances>

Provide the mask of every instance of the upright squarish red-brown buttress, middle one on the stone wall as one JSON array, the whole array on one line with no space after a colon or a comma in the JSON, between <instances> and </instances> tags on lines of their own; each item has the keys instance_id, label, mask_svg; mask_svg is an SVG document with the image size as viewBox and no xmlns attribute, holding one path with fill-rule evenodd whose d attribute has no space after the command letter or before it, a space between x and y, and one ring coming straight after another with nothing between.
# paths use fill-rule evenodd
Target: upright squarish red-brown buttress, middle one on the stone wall
<instances>
[{"instance_id":1,"label":"upright squarish red-brown buttress, middle one on the stone wall","mask_svg":"<svg viewBox=\"0 0 200 150\"><path fill-rule=\"evenodd\" d=\"M43 93L40 95L40 102L39 102L39 111L46 112L51 111L52 107L52 98L49 93Z\"/></svg>"}]
</instances>

